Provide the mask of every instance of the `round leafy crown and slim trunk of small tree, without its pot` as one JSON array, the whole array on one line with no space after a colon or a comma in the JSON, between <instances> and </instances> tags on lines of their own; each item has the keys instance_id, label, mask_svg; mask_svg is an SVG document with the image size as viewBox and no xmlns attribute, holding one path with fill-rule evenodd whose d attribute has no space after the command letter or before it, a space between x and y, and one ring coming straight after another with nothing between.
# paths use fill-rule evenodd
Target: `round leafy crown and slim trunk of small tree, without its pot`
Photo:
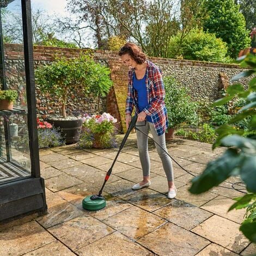
<instances>
[{"instance_id":1,"label":"round leafy crown and slim trunk of small tree, without its pot","mask_svg":"<svg viewBox=\"0 0 256 256\"><path fill-rule=\"evenodd\" d=\"M110 71L95 63L89 54L74 59L60 58L50 65L35 70L35 81L42 93L49 93L62 103L62 115L66 118L67 98L75 93L88 96L106 96L112 86Z\"/></svg>"}]
</instances>

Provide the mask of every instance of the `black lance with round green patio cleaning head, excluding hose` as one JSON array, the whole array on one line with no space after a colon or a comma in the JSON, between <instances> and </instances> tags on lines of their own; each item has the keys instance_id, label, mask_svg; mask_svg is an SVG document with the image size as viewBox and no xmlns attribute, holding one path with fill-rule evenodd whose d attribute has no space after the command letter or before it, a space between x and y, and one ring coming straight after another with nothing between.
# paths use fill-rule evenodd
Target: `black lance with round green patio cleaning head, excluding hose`
<instances>
[{"instance_id":1,"label":"black lance with round green patio cleaning head, excluding hose","mask_svg":"<svg viewBox=\"0 0 256 256\"><path fill-rule=\"evenodd\" d=\"M131 122L130 122L130 125L129 125L126 133L125 133L124 138L123 138L123 141L120 144L118 153L115 156L115 159L114 159L111 167L109 168L109 170L108 170L108 172L106 174L104 183L103 183L103 185L101 187L101 190L99 191L99 194L97 194L97 195L94 194L93 196L88 196L88 197L84 198L83 202L82 202L83 209L86 209L86 210L89 210L89 211L97 211L97 210L100 210L100 209L102 209L102 208L104 208L106 206L106 200L105 200L104 197L101 196L102 191L103 191L103 187L105 186L109 176L111 175L114 163L115 163L115 161L117 161L117 157L120 154L121 149L123 149L127 137L129 136L129 134L132 131L132 129L135 127L136 121L137 121L137 115L135 115L132 118Z\"/></svg>"}]
</instances>

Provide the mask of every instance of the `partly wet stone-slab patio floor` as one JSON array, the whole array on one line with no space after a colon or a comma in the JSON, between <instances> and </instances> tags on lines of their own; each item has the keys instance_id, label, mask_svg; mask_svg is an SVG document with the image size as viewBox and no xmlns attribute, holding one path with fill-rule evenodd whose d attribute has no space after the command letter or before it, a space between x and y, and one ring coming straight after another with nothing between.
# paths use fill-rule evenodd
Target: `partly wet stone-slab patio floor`
<instances>
[{"instance_id":1,"label":"partly wet stone-slab patio floor","mask_svg":"<svg viewBox=\"0 0 256 256\"><path fill-rule=\"evenodd\" d=\"M118 136L120 143L122 136ZM223 149L175 138L169 154L192 174ZM193 177L174 163L175 199L168 199L167 179L153 143L149 145L151 186L133 191L142 170L136 135L129 136L103 196L105 209L87 211L82 199L95 194L118 149L81 150L75 145L40 150L48 214L0 224L0 255L251 255L256 246L240 233L245 210L227 213L242 193L215 187L194 196ZM222 186L231 187L237 177Z\"/></svg>"}]
</instances>

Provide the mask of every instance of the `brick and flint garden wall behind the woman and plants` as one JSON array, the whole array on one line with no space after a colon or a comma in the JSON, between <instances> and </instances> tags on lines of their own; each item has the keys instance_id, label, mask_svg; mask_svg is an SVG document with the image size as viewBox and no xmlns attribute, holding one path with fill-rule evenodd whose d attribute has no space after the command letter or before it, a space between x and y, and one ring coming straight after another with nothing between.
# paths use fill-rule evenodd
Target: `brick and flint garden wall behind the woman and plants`
<instances>
[{"instance_id":1,"label":"brick and flint garden wall behind the woman and plants","mask_svg":"<svg viewBox=\"0 0 256 256\"><path fill-rule=\"evenodd\" d=\"M23 49L21 45L17 44L5 44L5 56L7 62L14 64L17 61L23 60ZM81 52L88 52L92 50L81 50L74 48L59 48L50 46L34 46L34 60L35 66L41 63L50 63L56 57L65 56L67 58L74 58ZM103 100L101 111L106 111L114 115L119 121L121 120L121 129L124 126L124 111L125 111L125 99L127 92L127 71L117 54L113 51L93 50L94 59L97 62L106 64L111 69L111 79L114 83L111 91L109 92L106 102ZM241 72L238 65L235 64L221 64L221 63L209 63L209 62L197 62L193 60L178 60L178 59L164 59L164 58L149 58L155 64L157 64L163 72L163 76L172 75L182 85L190 88L190 94L195 100L208 97L210 100L217 99L220 95L218 93L220 89L220 81L222 81L223 74L227 79L233 75ZM14 72L14 70L13 70ZM221 79L220 79L221 78ZM247 80L242 81L246 84ZM47 113L56 113L56 106L58 103L47 102L43 96L40 95L40 88L38 88L38 112L43 113L46 108ZM85 99L79 99L76 102L76 108L79 108L83 104ZM47 104L43 104L42 101L46 101ZM73 99L70 99L71 103ZM88 99L86 100L89 101ZM105 105L104 105L105 104ZM81 110L80 109L80 110ZM123 125L122 125L123 124Z\"/></svg>"}]
</instances>

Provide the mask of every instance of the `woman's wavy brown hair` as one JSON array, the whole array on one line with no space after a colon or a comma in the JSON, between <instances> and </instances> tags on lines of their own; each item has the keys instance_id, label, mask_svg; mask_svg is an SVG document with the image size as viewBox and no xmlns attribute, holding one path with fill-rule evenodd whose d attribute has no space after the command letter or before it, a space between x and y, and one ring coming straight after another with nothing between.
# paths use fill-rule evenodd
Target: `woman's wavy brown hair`
<instances>
[{"instance_id":1,"label":"woman's wavy brown hair","mask_svg":"<svg viewBox=\"0 0 256 256\"><path fill-rule=\"evenodd\" d=\"M132 42L126 42L126 44L121 47L120 51L118 52L119 56L122 56L126 53L128 53L131 58L136 61L137 64L143 64L146 60L145 53L143 53L141 48Z\"/></svg>"}]
</instances>

